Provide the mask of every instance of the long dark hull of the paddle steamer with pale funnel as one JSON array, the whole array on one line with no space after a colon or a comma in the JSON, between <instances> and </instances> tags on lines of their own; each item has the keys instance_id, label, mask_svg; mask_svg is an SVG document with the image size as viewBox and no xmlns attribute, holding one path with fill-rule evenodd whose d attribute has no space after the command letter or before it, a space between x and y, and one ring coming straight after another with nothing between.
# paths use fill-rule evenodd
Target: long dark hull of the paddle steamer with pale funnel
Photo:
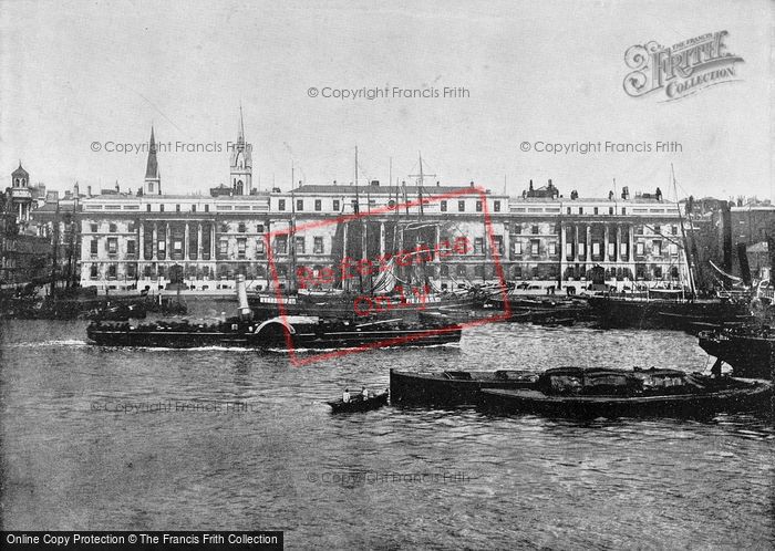
<instances>
[{"instance_id":1,"label":"long dark hull of the paddle steamer with pale funnel","mask_svg":"<svg viewBox=\"0 0 775 551\"><path fill-rule=\"evenodd\" d=\"M290 335L293 347L303 349L347 349L359 346L432 346L457 343L462 330L381 330L381 331L334 331L304 332ZM143 346L166 349L195 349L205 346L286 349L286 335L281 331L252 333L242 331L140 331L126 328L93 328L86 336L101 346Z\"/></svg>"}]
</instances>

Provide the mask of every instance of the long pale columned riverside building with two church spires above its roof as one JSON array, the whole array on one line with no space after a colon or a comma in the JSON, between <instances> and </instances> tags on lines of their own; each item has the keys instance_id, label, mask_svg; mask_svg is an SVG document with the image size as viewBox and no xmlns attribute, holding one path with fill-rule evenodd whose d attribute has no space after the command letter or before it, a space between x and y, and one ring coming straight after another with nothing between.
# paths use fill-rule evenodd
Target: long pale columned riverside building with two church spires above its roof
<instances>
[{"instance_id":1,"label":"long pale columned riverside building with two church spires above its roof","mask_svg":"<svg viewBox=\"0 0 775 551\"><path fill-rule=\"evenodd\" d=\"M318 274L339 267L344 257L363 257L362 242L373 260L402 241L403 248L422 241L433 249L433 241L459 238L468 243L465 253L436 256L425 266L441 288L492 281L497 277L494 254L504 277L515 282L555 282L560 276L564 282L587 280L593 268L604 270L609 281L685 278L679 207L664 201L659 189L585 199L575 191L564 197L551 181L538 189L530 183L520 197L479 194L473 185L372 181L259 193L251 186L251 169L240 117L228 189L166 195L152 132L142 193L111 190L81 201L82 285L155 290L182 281L193 289L218 289L234 287L241 273L260 290L273 280L268 247L276 282L288 285L300 269ZM422 212L418 205L390 208L420 196L427 201ZM338 222L355 212L368 216ZM412 227L424 229L412 237Z\"/></svg>"}]
</instances>

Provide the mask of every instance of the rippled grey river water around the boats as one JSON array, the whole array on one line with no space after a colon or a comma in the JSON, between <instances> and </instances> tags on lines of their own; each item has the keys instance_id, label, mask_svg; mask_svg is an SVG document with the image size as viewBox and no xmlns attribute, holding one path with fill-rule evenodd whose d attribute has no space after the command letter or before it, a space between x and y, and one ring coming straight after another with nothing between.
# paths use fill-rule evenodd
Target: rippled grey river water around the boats
<instances>
[{"instance_id":1,"label":"rippled grey river water around the boats","mask_svg":"<svg viewBox=\"0 0 775 551\"><path fill-rule=\"evenodd\" d=\"M775 547L765 414L581 423L324 404L385 388L390 367L709 367L680 332L492 324L459 347L293 367L4 321L0 365L6 530L277 529L289 549Z\"/></svg>"}]
</instances>

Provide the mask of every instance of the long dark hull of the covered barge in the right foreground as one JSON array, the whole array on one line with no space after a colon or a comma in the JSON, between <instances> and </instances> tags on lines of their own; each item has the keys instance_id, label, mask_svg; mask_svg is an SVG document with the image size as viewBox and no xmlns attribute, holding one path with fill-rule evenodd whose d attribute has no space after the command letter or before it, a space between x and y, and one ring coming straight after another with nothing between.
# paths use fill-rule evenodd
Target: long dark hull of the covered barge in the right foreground
<instances>
[{"instance_id":1,"label":"long dark hull of the covered barge in the right foreground","mask_svg":"<svg viewBox=\"0 0 775 551\"><path fill-rule=\"evenodd\" d=\"M717 412L766 409L771 397L768 383L704 394L641 397L549 396L535 389L488 388L482 391L480 406L497 413L558 417L706 417Z\"/></svg>"}]
</instances>

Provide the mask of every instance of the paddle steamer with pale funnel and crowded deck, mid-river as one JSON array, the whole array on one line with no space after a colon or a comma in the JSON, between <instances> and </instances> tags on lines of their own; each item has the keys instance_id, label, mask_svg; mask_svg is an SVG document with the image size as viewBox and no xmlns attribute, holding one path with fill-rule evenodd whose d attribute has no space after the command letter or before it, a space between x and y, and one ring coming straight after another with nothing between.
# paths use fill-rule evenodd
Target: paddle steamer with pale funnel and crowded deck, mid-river
<instances>
[{"instance_id":1,"label":"paddle steamer with pale funnel and crowded deck, mid-river","mask_svg":"<svg viewBox=\"0 0 775 551\"><path fill-rule=\"evenodd\" d=\"M192 349L239 346L249 349L348 349L369 345L438 345L457 343L462 328L438 321L402 319L363 321L283 316L255 321L248 306L245 279L237 280L239 313L215 324L183 321L131 323L93 322L86 336L102 346Z\"/></svg>"}]
</instances>

